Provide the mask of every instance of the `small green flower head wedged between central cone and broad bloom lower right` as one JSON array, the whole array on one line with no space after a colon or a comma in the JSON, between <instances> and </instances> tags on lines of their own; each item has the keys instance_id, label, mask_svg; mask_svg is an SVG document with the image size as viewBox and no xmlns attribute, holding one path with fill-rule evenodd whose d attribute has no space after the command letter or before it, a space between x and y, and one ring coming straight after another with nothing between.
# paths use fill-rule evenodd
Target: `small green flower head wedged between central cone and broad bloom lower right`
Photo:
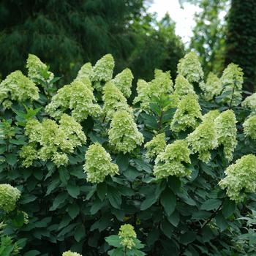
<instances>
[{"instance_id":1,"label":"small green flower head wedged between central cone and broad bloom lower right","mask_svg":"<svg viewBox=\"0 0 256 256\"><path fill-rule=\"evenodd\" d=\"M166 146L165 132L154 136L152 140L148 141L145 144L145 148L147 149L146 157L148 158L157 157L159 153L161 153L162 151L165 151L165 146Z\"/></svg>"}]
</instances>

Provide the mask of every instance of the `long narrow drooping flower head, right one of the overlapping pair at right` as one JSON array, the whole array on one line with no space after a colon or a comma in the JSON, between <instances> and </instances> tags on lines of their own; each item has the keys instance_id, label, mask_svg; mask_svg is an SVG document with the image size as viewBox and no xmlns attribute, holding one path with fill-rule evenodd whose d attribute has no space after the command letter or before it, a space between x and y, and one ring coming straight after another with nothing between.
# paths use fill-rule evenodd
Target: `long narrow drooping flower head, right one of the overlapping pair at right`
<instances>
[{"instance_id":1,"label":"long narrow drooping flower head, right one of the overlapping pair at right","mask_svg":"<svg viewBox=\"0 0 256 256\"><path fill-rule=\"evenodd\" d=\"M217 129L218 144L223 145L225 157L231 161L237 145L235 113L233 110L225 110L215 119L214 124Z\"/></svg>"}]
</instances>

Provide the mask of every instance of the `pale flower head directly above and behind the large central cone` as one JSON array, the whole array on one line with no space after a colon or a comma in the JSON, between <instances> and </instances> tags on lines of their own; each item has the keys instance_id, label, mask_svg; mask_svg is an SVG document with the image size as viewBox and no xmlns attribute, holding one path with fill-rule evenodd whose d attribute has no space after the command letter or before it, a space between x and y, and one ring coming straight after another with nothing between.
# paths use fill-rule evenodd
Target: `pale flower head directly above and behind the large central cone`
<instances>
[{"instance_id":1,"label":"pale flower head directly above and behind the large central cone","mask_svg":"<svg viewBox=\"0 0 256 256\"><path fill-rule=\"evenodd\" d=\"M103 87L102 99L104 101L103 112L106 114L107 120L111 120L117 110L131 112L127 104L127 99L112 82L106 83Z\"/></svg>"}]
</instances>

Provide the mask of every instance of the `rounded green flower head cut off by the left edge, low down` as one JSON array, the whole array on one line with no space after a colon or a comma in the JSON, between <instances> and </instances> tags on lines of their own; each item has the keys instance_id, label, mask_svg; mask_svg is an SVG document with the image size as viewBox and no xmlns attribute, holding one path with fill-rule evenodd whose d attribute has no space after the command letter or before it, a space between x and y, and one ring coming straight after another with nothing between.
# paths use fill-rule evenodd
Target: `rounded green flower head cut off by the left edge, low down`
<instances>
[{"instance_id":1,"label":"rounded green flower head cut off by the left edge, low down","mask_svg":"<svg viewBox=\"0 0 256 256\"><path fill-rule=\"evenodd\" d=\"M0 208L6 212L13 211L20 198L20 190L10 184L0 184Z\"/></svg>"}]
</instances>

